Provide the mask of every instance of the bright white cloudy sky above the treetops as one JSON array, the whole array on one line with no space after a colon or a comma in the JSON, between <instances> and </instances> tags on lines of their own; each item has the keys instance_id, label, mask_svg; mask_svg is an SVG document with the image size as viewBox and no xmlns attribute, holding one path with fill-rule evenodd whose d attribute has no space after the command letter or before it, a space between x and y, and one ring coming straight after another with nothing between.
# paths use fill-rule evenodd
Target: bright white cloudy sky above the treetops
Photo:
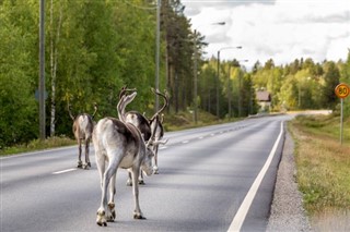
<instances>
[{"instance_id":1,"label":"bright white cloudy sky above the treetops","mask_svg":"<svg viewBox=\"0 0 350 232\"><path fill-rule=\"evenodd\" d=\"M312 58L346 61L349 0L182 0L191 29L206 36L205 58L241 61L247 69ZM215 23L225 22L225 25ZM235 47L242 46L242 49ZM234 48L232 48L234 47ZM244 61L248 60L248 61Z\"/></svg>"}]
</instances>

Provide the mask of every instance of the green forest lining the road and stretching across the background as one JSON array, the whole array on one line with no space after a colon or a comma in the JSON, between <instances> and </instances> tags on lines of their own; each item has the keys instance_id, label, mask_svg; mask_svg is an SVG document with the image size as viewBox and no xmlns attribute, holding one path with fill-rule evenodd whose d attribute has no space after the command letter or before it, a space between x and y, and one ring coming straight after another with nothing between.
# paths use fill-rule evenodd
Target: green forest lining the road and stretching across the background
<instances>
[{"instance_id":1,"label":"green forest lining the road and stretching across the background","mask_svg":"<svg viewBox=\"0 0 350 232\"><path fill-rule=\"evenodd\" d=\"M152 0L46 0L46 136L72 136L72 111L96 119L116 117L122 86L137 88L135 110L153 114L155 98L156 4ZM237 60L203 58L206 38L191 30L180 0L162 0L160 89L170 95L166 114L199 109L218 119L262 111L339 111L334 89L350 83L347 60L314 62L291 58L275 65L256 61L246 70ZM0 149L39 136L39 1L0 0ZM271 95L260 109L258 90ZM350 117L350 99L345 100Z\"/></svg>"}]
</instances>

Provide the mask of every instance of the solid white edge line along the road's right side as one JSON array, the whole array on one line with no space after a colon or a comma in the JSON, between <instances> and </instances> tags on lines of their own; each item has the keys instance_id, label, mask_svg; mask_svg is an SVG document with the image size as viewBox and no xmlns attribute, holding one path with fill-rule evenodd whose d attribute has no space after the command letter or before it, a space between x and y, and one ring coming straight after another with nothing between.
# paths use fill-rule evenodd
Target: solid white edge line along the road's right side
<instances>
[{"instance_id":1,"label":"solid white edge line along the road's right side","mask_svg":"<svg viewBox=\"0 0 350 232\"><path fill-rule=\"evenodd\" d=\"M245 198L244 198L238 211L236 212L233 221L231 222L231 225L230 225L228 231L231 232L231 231L240 231L241 230L242 224L243 224L243 222L245 220L245 217L246 217L246 215L247 215L247 212L248 212L248 210L250 208L250 205L252 205L252 203L254 200L254 197L255 197L255 195L256 195L256 193L257 193L257 191L258 191L258 188L259 188L259 186L261 184L261 181L262 181L262 179L264 179L264 176L265 176L265 174L266 174L266 172L267 172L267 170L268 170L268 168L269 168L269 166L270 166L270 163L271 163L271 161L273 159L277 146L280 143L282 134L283 134L283 122L281 122L281 132L280 132L280 134L279 134L279 136L278 136L278 138L277 138L277 141L276 141L276 143L275 143L275 145L273 145L273 147L271 149L271 151L270 151L270 155L269 155L268 159L266 160L261 171L259 172L258 176L255 179L253 185L250 186L249 192L245 196Z\"/></svg>"}]
</instances>

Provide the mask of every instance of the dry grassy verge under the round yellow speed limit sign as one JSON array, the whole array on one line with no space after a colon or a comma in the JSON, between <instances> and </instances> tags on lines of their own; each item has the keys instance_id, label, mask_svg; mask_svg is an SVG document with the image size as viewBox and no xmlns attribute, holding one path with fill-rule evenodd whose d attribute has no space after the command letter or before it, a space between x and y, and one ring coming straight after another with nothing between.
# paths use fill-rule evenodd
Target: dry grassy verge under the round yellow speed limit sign
<instances>
[{"instance_id":1,"label":"dry grassy verge under the round yellow speed limit sign","mask_svg":"<svg viewBox=\"0 0 350 232\"><path fill-rule=\"evenodd\" d=\"M339 117L298 117L289 123L295 141L298 184L315 231L350 231L350 119L339 139Z\"/></svg>"}]
</instances>

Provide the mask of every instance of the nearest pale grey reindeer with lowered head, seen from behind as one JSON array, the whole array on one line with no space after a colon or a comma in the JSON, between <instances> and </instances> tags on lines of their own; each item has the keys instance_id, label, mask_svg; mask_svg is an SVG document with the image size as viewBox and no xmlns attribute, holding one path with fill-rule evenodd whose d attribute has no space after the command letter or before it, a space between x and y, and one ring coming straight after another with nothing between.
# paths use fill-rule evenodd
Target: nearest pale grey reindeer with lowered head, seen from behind
<instances>
[{"instance_id":1,"label":"nearest pale grey reindeer with lowered head, seen from behind","mask_svg":"<svg viewBox=\"0 0 350 232\"><path fill-rule=\"evenodd\" d=\"M117 169L128 169L132 173L132 193L135 199L135 219L145 219L139 205L140 170L147 175L153 173L151 145L153 141L144 142L140 131L131 123L126 122L125 107L130 103L137 93L121 96L117 110L118 119L104 118L98 121L93 132L95 158L101 178L102 198L97 210L96 223L107 225L107 221L116 219L114 195ZM161 144L162 142L158 142ZM107 188L109 185L109 202L107 204Z\"/></svg>"}]
</instances>

